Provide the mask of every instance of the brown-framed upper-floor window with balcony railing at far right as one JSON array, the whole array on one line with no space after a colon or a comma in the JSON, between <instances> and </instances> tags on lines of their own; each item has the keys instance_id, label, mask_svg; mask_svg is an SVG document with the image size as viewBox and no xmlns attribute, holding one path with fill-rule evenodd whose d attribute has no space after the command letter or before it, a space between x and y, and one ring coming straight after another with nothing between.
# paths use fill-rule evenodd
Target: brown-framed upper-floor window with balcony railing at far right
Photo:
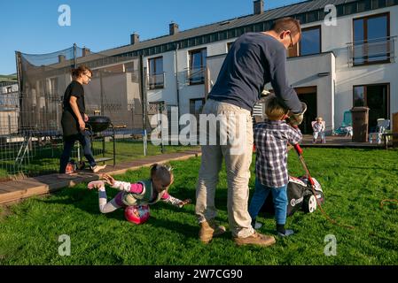
<instances>
[{"instance_id":1,"label":"brown-framed upper-floor window with balcony railing at far right","mask_svg":"<svg viewBox=\"0 0 398 283\"><path fill-rule=\"evenodd\" d=\"M392 41L389 39L389 14L354 19L354 65L389 62Z\"/></svg>"}]
</instances>

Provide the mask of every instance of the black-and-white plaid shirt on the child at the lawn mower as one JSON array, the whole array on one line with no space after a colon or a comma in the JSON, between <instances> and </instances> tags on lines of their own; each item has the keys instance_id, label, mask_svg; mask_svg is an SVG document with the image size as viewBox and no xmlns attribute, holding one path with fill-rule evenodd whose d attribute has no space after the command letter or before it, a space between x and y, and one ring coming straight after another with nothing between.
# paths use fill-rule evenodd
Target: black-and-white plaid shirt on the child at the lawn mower
<instances>
[{"instance_id":1,"label":"black-and-white plaid shirt on the child at the lawn mower","mask_svg":"<svg viewBox=\"0 0 398 283\"><path fill-rule=\"evenodd\" d=\"M267 187L287 185L287 142L294 145L301 141L299 128L293 128L282 120L269 120L254 126L254 144L257 151L255 176Z\"/></svg>"}]
</instances>

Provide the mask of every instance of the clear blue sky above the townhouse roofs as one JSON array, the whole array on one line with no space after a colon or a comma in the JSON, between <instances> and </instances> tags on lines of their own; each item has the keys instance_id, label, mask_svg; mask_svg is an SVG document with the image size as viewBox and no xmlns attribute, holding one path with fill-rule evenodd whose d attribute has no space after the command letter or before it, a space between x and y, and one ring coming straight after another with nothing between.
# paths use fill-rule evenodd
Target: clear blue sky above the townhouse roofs
<instances>
[{"instance_id":1,"label":"clear blue sky above the townhouse roofs","mask_svg":"<svg viewBox=\"0 0 398 283\"><path fill-rule=\"evenodd\" d=\"M302 1L302 0L301 0ZM265 10L300 0L265 0ZM71 26L59 26L59 5L71 9ZM93 51L253 13L253 0L15 0L0 1L0 74L16 72L15 50L43 54L73 46Z\"/></svg>"}]
</instances>

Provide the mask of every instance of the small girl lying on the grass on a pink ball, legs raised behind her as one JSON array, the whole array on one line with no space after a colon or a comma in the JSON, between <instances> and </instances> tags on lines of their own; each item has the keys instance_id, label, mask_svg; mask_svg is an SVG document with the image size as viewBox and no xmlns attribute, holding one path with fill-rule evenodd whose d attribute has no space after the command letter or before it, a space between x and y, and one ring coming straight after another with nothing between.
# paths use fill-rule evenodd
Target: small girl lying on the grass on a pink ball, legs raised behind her
<instances>
[{"instance_id":1,"label":"small girl lying on the grass on a pink ball, legs raised behind her","mask_svg":"<svg viewBox=\"0 0 398 283\"><path fill-rule=\"evenodd\" d=\"M185 204L191 203L190 199L181 201L176 197L168 194L168 187L173 183L174 176L171 172L171 168L161 164L152 164L151 166L151 178L148 180L140 180L137 183L129 183L119 180L114 180L112 176L104 174L103 180L96 180L89 183L87 186L89 189L98 188L98 203L99 210L102 213L109 213L114 210L123 208L126 209L126 218L133 220L132 222L139 222L128 217L129 212L133 211L138 218L141 210L145 210L149 217L148 205L158 203L160 200L165 203L170 203L176 207L182 208ZM104 181L105 180L105 181ZM121 190L110 202L107 202L105 183L111 187ZM134 207L131 210L130 207ZM130 209L128 211L128 209ZM134 215L133 215L134 217ZM141 221L140 223L143 223ZM139 224L139 223L137 223Z\"/></svg>"}]
</instances>

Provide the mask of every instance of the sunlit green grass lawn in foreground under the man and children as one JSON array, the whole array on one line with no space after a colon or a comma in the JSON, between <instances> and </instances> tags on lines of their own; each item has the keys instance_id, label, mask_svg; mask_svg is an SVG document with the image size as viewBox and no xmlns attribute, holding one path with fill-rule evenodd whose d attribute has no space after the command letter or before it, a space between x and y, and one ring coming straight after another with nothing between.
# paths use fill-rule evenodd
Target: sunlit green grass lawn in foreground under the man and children
<instances>
[{"instance_id":1,"label":"sunlit green grass lawn in foreground under the man and children","mask_svg":"<svg viewBox=\"0 0 398 283\"><path fill-rule=\"evenodd\" d=\"M324 188L324 210L347 229L332 225L320 210L296 212L287 226L296 232L277 237L269 248L237 247L230 233L209 245L199 243L194 205L177 209L166 203L151 207L142 226L126 221L123 211L98 212L98 193L82 184L49 197L31 198L2 208L1 264L398 264L397 206L380 208L383 199L398 198L398 151L365 149L304 149L312 175ZM195 199L200 159L172 162L175 183L170 193ZM292 151L290 172L302 169ZM252 167L253 169L253 167ZM148 169L128 172L119 180L137 181ZM254 175L250 185L254 186ZM216 193L218 220L228 226L225 172ZM108 189L108 197L115 195ZM253 190L251 190L251 194ZM272 218L259 218L261 233L274 233ZM59 236L71 240L71 256L59 256ZM337 255L325 256L332 234Z\"/></svg>"}]
</instances>

